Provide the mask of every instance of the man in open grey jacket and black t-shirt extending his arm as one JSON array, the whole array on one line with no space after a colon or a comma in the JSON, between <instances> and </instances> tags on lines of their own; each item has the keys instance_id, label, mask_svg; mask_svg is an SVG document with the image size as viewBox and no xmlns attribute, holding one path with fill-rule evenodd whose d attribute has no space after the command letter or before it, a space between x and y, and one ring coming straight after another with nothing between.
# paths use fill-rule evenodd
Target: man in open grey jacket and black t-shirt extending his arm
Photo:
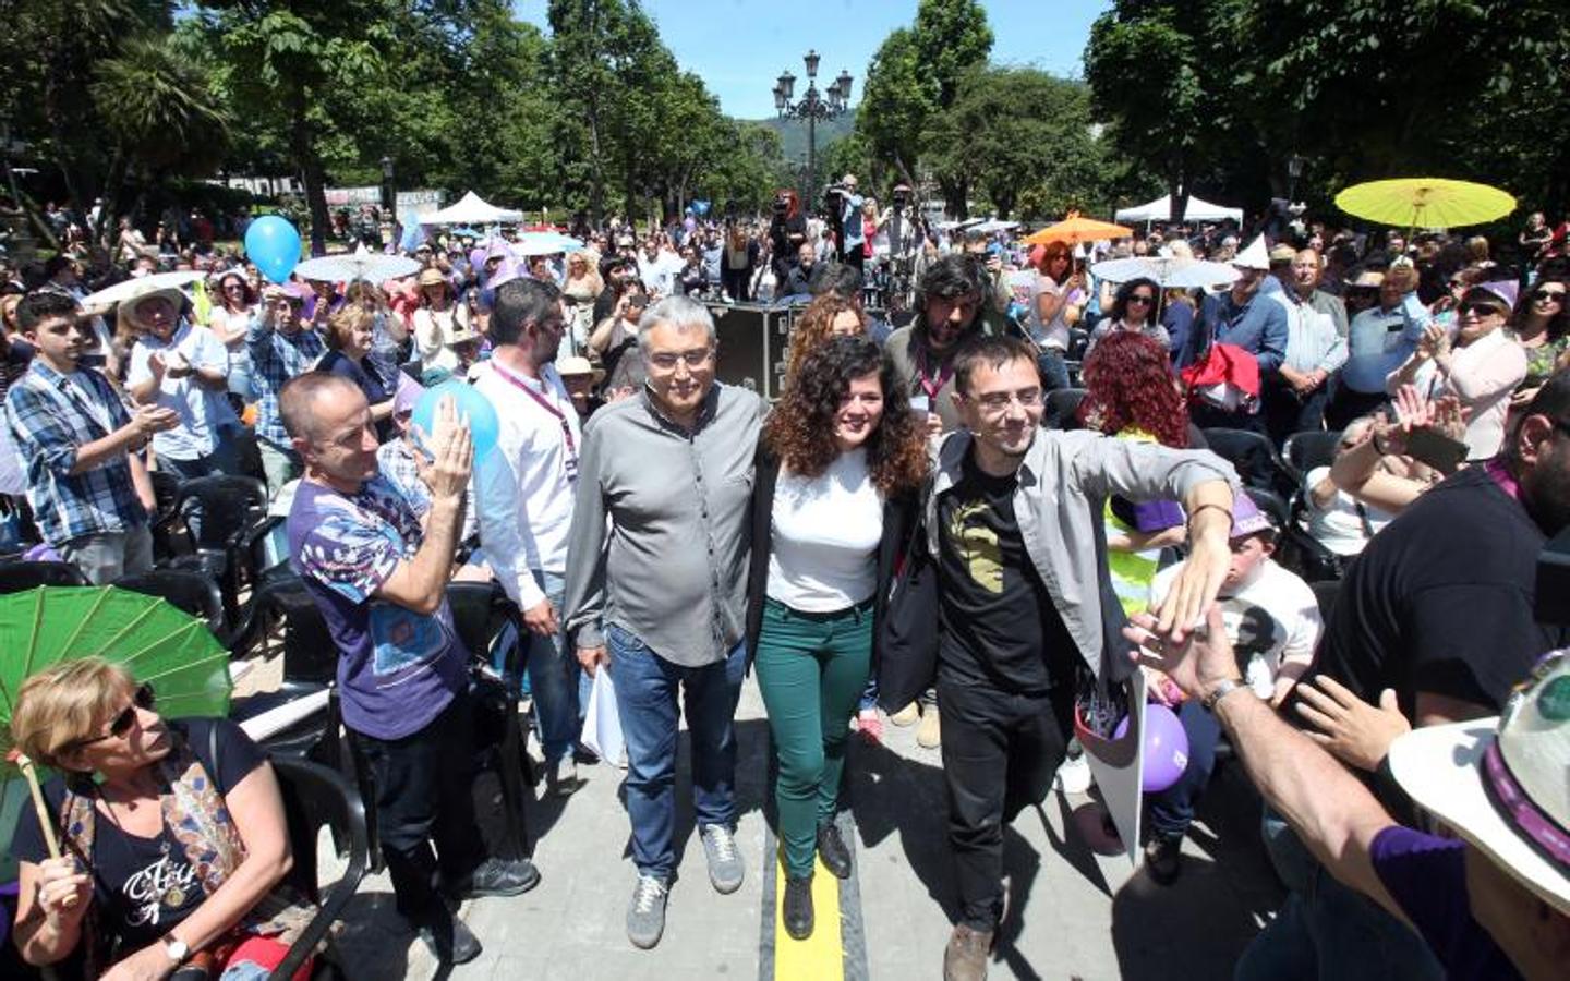
<instances>
[{"instance_id":1,"label":"man in open grey jacket and black t-shirt extending his arm","mask_svg":"<svg viewBox=\"0 0 1570 981\"><path fill-rule=\"evenodd\" d=\"M1003 909L1003 827L1052 786L1079 678L1105 678L1107 659L1124 658L1101 535L1107 496L1182 502L1188 560L1157 618L1184 633L1231 567L1237 476L1209 450L1041 429L1041 377L1024 341L975 337L950 364L964 429L939 450L917 548L937 568L937 698L959 892L944 978L980 981Z\"/></svg>"}]
</instances>

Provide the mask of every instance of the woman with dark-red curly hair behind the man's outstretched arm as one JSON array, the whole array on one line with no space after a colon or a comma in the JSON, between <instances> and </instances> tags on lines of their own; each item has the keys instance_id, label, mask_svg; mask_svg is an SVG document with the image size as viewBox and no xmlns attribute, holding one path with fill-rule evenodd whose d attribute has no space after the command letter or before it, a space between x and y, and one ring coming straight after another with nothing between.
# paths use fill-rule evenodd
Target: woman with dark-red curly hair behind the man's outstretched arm
<instances>
[{"instance_id":1,"label":"woman with dark-red curly hair behind the man's outstretched arm","mask_svg":"<svg viewBox=\"0 0 1570 981\"><path fill-rule=\"evenodd\" d=\"M1173 378L1171 359L1160 342L1143 333L1113 331L1085 359L1085 399L1079 421L1140 443L1173 449L1203 444L1190 438L1188 410ZM1174 501L1132 504L1107 499L1107 565L1112 587L1126 614L1143 612L1160 552L1184 542L1184 513Z\"/></svg>"}]
</instances>

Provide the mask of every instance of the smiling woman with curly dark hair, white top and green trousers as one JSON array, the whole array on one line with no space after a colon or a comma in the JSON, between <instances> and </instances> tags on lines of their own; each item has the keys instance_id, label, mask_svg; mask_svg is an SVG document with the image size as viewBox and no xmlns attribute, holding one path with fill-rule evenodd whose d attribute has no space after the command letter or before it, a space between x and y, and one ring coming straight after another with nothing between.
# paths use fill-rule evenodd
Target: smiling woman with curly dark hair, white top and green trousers
<instances>
[{"instance_id":1,"label":"smiling woman with curly dark hair, white top and green trousers","mask_svg":"<svg viewBox=\"0 0 1570 981\"><path fill-rule=\"evenodd\" d=\"M812 934L815 857L851 855L834 824L848 724L926 476L926 433L878 345L810 350L758 444L747 650L779 755L785 929Z\"/></svg>"}]
</instances>

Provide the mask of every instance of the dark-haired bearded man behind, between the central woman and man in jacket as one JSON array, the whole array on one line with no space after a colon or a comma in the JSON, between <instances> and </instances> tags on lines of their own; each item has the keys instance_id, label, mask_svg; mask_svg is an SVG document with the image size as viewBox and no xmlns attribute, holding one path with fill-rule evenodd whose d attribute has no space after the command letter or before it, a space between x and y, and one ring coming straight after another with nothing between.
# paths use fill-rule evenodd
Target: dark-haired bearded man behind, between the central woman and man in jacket
<instances>
[{"instance_id":1,"label":"dark-haired bearded man behind, between the central woman and man in jacket","mask_svg":"<svg viewBox=\"0 0 1570 981\"><path fill-rule=\"evenodd\" d=\"M953 400L953 358L962 341L989 333L984 317L992 309L991 298L991 279L975 256L944 256L922 275L915 322L889 334L884 345L912 408L926 414L934 435L961 422Z\"/></svg>"}]
</instances>

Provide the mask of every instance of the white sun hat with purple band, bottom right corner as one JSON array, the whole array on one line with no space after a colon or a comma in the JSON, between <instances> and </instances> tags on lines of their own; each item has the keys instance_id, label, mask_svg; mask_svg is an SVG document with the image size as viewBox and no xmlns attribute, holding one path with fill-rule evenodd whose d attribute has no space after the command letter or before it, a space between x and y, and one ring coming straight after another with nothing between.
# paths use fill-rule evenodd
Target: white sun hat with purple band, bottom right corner
<instances>
[{"instance_id":1,"label":"white sun hat with purple band, bottom right corner","mask_svg":"<svg viewBox=\"0 0 1570 981\"><path fill-rule=\"evenodd\" d=\"M1570 648L1543 655L1504 713L1413 730L1389 747L1407 794L1570 915Z\"/></svg>"}]
</instances>

